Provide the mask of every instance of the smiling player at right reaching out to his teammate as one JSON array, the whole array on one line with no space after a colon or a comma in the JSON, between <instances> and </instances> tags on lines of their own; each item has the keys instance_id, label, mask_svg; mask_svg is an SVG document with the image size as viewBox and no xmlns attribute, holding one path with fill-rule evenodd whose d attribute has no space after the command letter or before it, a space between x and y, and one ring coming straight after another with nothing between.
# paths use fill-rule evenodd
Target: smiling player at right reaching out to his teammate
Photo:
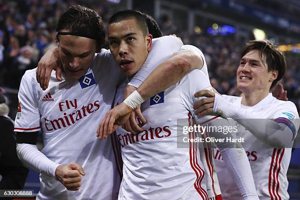
<instances>
[{"instance_id":1,"label":"smiling player at right reaching out to his teammate","mask_svg":"<svg viewBox=\"0 0 300 200\"><path fill-rule=\"evenodd\" d=\"M285 57L274 44L250 41L236 73L242 97L220 96L209 91L196 94L210 97L196 104L195 108L199 107L196 114L216 112L244 126L241 136L248 138L244 148L260 200L289 199L287 170L299 129L299 115L293 102L277 100L270 93L285 70ZM223 197L239 199L238 189L218 151L215 159Z\"/></svg>"}]
</instances>

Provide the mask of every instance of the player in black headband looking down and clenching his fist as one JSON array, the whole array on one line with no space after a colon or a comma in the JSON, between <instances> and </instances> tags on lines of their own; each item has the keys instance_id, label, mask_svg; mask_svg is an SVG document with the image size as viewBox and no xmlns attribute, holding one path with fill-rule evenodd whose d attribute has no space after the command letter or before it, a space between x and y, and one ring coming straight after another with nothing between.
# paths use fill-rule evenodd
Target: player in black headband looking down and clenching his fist
<instances>
[{"instance_id":1,"label":"player in black headband looking down and clenching his fist","mask_svg":"<svg viewBox=\"0 0 300 200\"><path fill-rule=\"evenodd\" d=\"M71 6L60 17L56 30L63 81L52 74L49 88L44 91L35 81L36 69L26 71L15 121L18 156L41 173L39 200L117 199L121 177L112 148L115 141L99 141L95 132L97 122L111 108L123 75L109 50L101 50L105 34L97 12ZM175 37L169 39L159 41L164 40L167 46L170 43L171 56L182 43ZM164 47L153 41L153 50L159 49ZM42 151L36 147L40 130Z\"/></svg>"}]
</instances>

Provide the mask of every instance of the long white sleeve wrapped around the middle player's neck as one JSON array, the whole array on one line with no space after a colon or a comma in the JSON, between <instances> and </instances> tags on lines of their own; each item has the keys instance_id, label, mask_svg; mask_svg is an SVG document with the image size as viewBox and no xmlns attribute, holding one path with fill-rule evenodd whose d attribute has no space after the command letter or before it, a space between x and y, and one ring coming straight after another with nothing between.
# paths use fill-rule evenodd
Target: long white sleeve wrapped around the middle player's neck
<instances>
[{"instance_id":1,"label":"long white sleeve wrapped around the middle player's neck","mask_svg":"<svg viewBox=\"0 0 300 200\"><path fill-rule=\"evenodd\" d=\"M152 48L142 68L133 76L128 85L138 88L150 73L161 63L180 50L181 40L175 36L163 36L152 40Z\"/></svg>"}]
</instances>

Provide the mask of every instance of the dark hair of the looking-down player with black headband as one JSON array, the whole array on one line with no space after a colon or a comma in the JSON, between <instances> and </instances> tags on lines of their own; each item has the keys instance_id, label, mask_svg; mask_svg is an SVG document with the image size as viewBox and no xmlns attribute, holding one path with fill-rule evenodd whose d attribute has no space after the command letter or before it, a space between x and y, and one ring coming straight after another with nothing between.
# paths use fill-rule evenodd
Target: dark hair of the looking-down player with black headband
<instances>
[{"instance_id":1,"label":"dark hair of the looking-down player with black headband","mask_svg":"<svg viewBox=\"0 0 300 200\"><path fill-rule=\"evenodd\" d=\"M55 31L67 29L72 33L89 33L97 38L97 48L101 48L105 40L104 26L101 16L93 9L82 5L73 5L64 12L57 23ZM59 41L58 35L56 39Z\"/></svg>"}]
</instances>

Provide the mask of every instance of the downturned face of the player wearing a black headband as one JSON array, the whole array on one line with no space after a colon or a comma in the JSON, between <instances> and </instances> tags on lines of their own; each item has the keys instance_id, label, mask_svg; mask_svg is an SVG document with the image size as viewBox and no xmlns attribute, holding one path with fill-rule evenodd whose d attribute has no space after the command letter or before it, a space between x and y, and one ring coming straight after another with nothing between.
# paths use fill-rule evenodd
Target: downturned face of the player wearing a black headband
<instances>
[{"instance_id":1,"label":"downturned face of the player wearing a black headband","mask_svg":"<svg viewBox=\"0 0 300 200\"><path fill-rule=\"evenodd\" d=\"M73 80L85 75L93 63L96 40L73 36L59 36L59 55L65 74Z\"/></svg>"}]
</instances>

